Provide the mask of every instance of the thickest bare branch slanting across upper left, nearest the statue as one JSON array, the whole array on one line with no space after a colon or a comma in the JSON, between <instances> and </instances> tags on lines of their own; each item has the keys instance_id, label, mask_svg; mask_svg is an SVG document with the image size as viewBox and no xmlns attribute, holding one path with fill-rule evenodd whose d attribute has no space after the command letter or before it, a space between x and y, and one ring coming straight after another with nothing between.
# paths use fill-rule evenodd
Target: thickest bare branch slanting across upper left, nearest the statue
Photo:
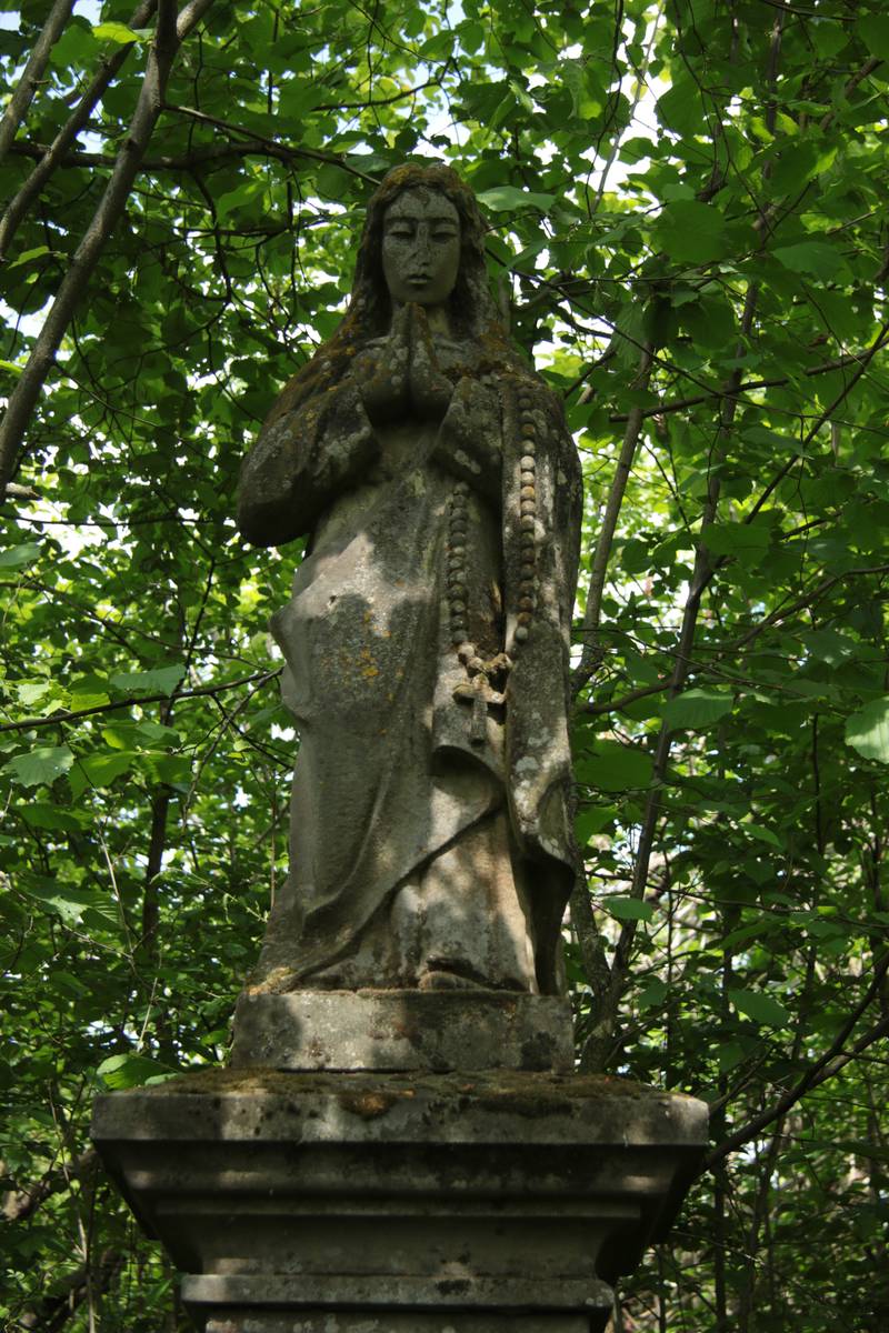
<instances>
[{"instance_id":1,"label":"thickest bare branch slanting across upper left, nearest the statue","mask_svg":"<svg viewBox=\"0 0 889 1333\"><path fill-rule=\"evenodd\" d=\"M212 3L213 0L191 0L185 5L176 24L177 47L203 19ZM9 405L0 423L0 496L5 493L7 483L12 480L31 415L37 405L40 392L53 367L56 352L77 303L88 287L108 237L127 207L129 191L160 116L171 61L169 51L155 43L148 57L148 68L129 132L117 155L105 193L71 259L28 364L9 397Z\"/></svg>"}]
</instances>

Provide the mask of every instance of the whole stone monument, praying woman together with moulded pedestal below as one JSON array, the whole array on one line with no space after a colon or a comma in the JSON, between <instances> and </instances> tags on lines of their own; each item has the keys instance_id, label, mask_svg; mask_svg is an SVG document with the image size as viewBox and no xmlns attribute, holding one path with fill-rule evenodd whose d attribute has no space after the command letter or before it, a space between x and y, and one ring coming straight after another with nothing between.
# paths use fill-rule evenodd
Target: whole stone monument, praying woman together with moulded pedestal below
<instances>
[{"instance_id":1,"label":"whole stone monument, praying woman together with moulded pedestal below","mask_svg":"<svg viewBox=\"0 0 889 1333\"><path fill-rule=\"evenodd\" d=\"M291 870L231 1066L93 1113L205 1333L604 1333L701 1168L704 1102L573 1072L580 508L472 192L397 168L244 468L245 537L308 545L272 620Z\"/></svg>"}]
</instances>

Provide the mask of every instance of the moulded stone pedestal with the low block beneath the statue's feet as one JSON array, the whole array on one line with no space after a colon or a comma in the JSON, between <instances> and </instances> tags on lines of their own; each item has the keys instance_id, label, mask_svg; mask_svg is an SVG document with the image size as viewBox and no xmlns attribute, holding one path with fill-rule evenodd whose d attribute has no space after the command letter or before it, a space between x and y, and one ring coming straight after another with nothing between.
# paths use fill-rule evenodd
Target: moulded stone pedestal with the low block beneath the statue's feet
<instances>
[{"instance_id":1,"label":"moulded stone pedestal with the low block beneath the statue's feet","mask_svg":"<svg viewBox=\"0 0 889 1333\"><path fill-rule=\"evenodd\" d=\"M404 1048L387 1036L396 998L413 1016ZM484 1010L513 1040L481 1042L489 1068L454 1070L453 1044L444 1041L443 1054L423 1033L409 1040L417 1014L431 1020L443 997L396 998L375 994L363 1008L355 996L341 1005L328 997L315 1046L288 1038L287 1026L277 1036L251 1026L241 1009L243 1068L97 1100L96 1146L144 1229L187 1274L183 1301L197 1326L604 1329L612 1284L665 1234L696 1173L705 1106L626 1080L514 1068L540 1062L544 1049L521 1040L533 1014L524 997L518 1006L501 997L501 1010L482 997L476 1025L485 1026ZM267 1001L280 1001L267 1013L272 1029L288 1004L311 1014L305 997L264 997L251 1016ZM468 1005L465 993L444 997L439 1030L469 1022ZM357 1028L343 1045L337 1024L349 1006ZM403 1060L408 1069L348 1064L365 1058L361 1033L377 1030L369 1049L384 1066ZM267 1058L277 1052L297 1068L251 1068L257 1042L268 1044ZM558 1050L554 1041L554 1062ZM307 1068L313 1060L327 1068Z\"/></svg>"}]
</instances>

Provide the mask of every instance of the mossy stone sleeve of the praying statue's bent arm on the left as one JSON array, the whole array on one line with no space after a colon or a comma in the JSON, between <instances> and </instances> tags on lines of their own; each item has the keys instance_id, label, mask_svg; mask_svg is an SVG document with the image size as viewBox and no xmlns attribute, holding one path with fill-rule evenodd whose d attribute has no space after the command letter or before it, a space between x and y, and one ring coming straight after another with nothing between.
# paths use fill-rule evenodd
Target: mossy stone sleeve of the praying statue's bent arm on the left
<instances>
[{"instance_id":1,"label":"mossy stone sleeve of the praying statue's bent arm on the left","mask_svg":"<svg viewBox=\"0 0 889 1333\"><path fill-rule=\"evenodd\" d=\"M355 381L288 408L285 389L241 471L237 525L257 547L311 533L336 496L379 455Z\"/></svg>"}]
</instances>

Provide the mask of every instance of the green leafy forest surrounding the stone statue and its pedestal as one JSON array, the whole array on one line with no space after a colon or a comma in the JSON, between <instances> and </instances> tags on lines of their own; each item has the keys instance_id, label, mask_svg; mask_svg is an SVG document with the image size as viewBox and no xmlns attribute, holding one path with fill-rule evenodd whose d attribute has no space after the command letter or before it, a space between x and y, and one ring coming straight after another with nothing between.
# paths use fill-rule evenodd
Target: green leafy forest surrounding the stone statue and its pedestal
<instances>
[{"instance_id":1,"label":"green leafy forest surrounding the stone statue and its pedestal","mask_svg":"<svg viewBox=\"0 0 889 1333\"><path fill-rule=\"evenodd\" d=\"M301 549L240 540L239 465L419 156L476 189L586 476L578 1060L712 1106L616 1328L885 1333L882 0L0 23L4 1328L183 1326L91 1098L225 1057Z\"/></svg>"}]
</instances>

